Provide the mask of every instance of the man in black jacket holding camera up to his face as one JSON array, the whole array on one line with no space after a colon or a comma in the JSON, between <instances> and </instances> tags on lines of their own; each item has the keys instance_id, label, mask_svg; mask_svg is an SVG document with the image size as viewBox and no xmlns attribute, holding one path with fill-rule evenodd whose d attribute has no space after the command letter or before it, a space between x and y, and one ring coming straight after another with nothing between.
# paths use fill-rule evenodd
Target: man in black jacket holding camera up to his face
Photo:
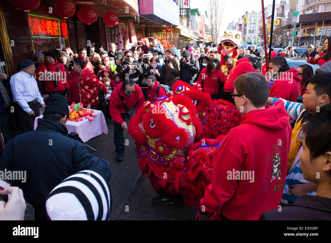
<instances>
[{"instance_id":1,"label":"man in black jacket holding camera up to his face","mask_svg":"<svg viewBox=\"0 0 331 243\"><path fill-rule=\"evenodd\" d=\"M199 61L193 58L188 50L183 51L183 58L179 61L180 76L179 79L192 84L199 73Z\"/></svg>"}]
</instances>

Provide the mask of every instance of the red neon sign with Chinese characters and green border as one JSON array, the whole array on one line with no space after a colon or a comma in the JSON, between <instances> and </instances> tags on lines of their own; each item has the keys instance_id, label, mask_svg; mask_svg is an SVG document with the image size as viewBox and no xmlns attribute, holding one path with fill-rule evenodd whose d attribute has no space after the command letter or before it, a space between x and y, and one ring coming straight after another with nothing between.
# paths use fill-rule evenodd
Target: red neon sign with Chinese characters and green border
<instances>
[{"instance_id":1,"label":"red neon sign with Chinese characters and green border","mask_svg":"<svg viewBox=\"0 0 331 243\"><path fill-rule=\"evenodd\" d=\"M61 37L60 20L29 14L29 24L32 37L59 38ZM68 33L68 30L67 30Z\"/></svg>"}]
</instances>

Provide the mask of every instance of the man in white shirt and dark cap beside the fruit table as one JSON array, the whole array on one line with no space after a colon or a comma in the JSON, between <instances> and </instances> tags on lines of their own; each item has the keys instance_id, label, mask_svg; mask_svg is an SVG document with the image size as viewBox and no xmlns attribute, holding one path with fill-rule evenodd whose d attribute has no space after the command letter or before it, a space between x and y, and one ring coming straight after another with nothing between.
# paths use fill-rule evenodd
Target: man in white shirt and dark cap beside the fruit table
<instances>
[{"instance_id":1,"label":"man in white shirt and dark cap beside the fruit table","mask_svg":"<svg viewBox=\"0 0 331 243\"><path fill-rule=\"evenodd\" d=\"M38 91L38 85L34 79L33 61L21 60L21 71L10 79L13 93L15 111L18 113L19 122L23 131L33 130L34 118L39 116L38 102L45 108L45 103Z\"/></svg>"}]
</instances>

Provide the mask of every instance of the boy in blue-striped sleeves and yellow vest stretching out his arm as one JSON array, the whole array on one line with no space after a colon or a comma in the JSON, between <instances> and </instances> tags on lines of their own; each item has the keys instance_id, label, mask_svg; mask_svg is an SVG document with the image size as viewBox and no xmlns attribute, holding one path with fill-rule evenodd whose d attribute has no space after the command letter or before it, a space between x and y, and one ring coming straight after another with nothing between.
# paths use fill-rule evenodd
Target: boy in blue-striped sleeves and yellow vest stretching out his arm
<instances>
[{"instance_id":1,"label":"boy in blue-striped sleeves and yellow vest stretching out his arm","mask_svg":"<svg viewBox=\"0 0 331 243\"><path fill-rule=\"evenodd\" d=\"M303 95L303 103L284 101L290 118L296 120L292 131L291 146L287 162L287 177L282 199L294 203L298 196L308 194L316 195L316 184L306 181L299 167L304 131L308 121L308 114L317 114L322 106L328 105L331 96L331 73L315 74L308 79L307 93ZM273 104L279 99L268 98L267 104Z\"/></svg>"}]
</instances>

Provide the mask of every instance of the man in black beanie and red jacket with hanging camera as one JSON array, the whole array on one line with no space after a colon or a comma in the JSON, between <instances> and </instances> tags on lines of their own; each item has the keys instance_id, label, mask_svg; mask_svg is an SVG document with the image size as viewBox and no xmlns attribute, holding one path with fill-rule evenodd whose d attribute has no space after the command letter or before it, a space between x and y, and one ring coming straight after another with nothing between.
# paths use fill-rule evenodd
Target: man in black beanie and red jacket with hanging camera
<instances>
[{"instance_id":1,"label":"man in black beanie and red jacket with hanging camera","mask_svg":"<svg viewBox=\"0 0 331 243\"><path fill-rule=\"evenodd\" d=\"M45 93L51 97L54 94L69 95L69 84L66 78L66 68L58 62L53 50L45 54L45 62L36 68L36 81L43 83ZM42 86L42 85L41 85Z\"/></svg>"}]
</instances>

